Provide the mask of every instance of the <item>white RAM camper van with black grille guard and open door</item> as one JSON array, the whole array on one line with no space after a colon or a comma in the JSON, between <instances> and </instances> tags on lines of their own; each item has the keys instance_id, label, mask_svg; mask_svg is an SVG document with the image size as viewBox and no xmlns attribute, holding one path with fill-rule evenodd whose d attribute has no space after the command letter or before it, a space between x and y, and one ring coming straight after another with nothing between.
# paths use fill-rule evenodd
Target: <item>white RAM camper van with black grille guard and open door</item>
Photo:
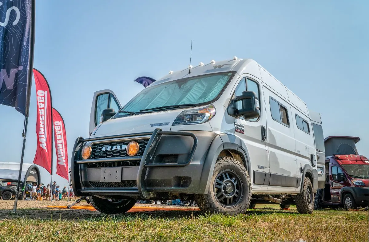
<instances>
[{"instance_id":1,"label":"white RAM camper van with black grille guard and open door","mask_svg":"<svg viewBox=\"0 0 369 242\"><path fill-rule=\"evenodd\" d=\"M252 59L170 71L123 107L113 91L95 92L90 137L73 148L73 189L112 214L175 198L228 214L261 200L310 214L314 124L320 115L312 123L304 101Z\"/></svg>"}]
</instances>

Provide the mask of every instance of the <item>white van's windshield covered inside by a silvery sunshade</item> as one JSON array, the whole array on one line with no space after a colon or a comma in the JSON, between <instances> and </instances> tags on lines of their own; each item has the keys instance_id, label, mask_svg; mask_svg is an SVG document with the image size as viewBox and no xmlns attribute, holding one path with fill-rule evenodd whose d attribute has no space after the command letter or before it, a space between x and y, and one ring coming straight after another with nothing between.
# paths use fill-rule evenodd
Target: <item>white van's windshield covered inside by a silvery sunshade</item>
<instances>
[{"instance_id":1,"label":"white van's windshield covered inside by a silvery sunshade","mask_svg":"<svg viewBox=\"0 0 369 242\"><path fill-rule=\"evenodd\" d=\"M232 72L215 73L183 78L146 87L132 98L113 118L127 115L123 110L131 113L139 113L142 110L158 107L181 106L186 104L196 104L192 106L199 106L201 104L207 104L218 97L232 75Z\"/></svg>"}]
</instances>

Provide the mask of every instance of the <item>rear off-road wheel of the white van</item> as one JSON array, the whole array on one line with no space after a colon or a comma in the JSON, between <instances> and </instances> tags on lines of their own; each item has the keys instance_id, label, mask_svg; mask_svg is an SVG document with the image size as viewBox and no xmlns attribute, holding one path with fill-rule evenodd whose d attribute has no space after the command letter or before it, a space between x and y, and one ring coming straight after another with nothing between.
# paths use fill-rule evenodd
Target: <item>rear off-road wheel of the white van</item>
<instances>
[{"instance_id":1,"label":"rear off-road wheel of the white van","mask_svg":"<svg viewBox=\"0 0 369 242\"><path fill-rule=\"evenodd\" d=\"M308 191L310 190L310 191ZM310 193L310 203L307 201L307 193ZM300 214L312 214L314 210L314 193L313 185L308 177L304 178L302 193L295 196L296 208Z\"/></svg>"}]
</instances>

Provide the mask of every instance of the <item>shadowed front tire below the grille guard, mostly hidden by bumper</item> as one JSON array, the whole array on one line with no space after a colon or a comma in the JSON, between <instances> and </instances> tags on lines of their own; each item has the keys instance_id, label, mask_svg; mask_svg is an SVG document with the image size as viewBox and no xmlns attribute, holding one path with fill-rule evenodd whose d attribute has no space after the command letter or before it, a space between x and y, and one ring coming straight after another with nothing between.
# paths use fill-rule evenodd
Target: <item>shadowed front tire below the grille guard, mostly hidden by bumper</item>
<instances>
[{"instance_id":1,"label":"shadowed front tire below the grille guard, mostly hidden by bumper","mask_svg":"<svg viewBox=\"0 0 369 242\"><path fill-rule=\"evenodd\" d=\"M121 214L130 210L136 203L136 200L120 200L112 202L104 198L91 196L91 205L96 208L97 211L104 214Z\"/></svg>"}]
</instances>

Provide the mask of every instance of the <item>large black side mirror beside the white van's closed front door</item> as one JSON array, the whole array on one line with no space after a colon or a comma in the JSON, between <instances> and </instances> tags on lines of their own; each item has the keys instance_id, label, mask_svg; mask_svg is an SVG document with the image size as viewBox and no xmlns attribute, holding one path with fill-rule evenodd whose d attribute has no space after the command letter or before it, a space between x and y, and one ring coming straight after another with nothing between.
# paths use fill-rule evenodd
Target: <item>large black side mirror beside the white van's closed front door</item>
<instances>
[{"instance_id":1,"label":"large black side mirror beside the white van's closed front door","mask_svg":"<svg viewBox=\"0 0 369 242\"><path fill-rule=\"evenodd\" d=\"M242 109L237 109L237 102L241 101ZM244 116L245 119L258 118L260 116L260 104L253 91L243 91L241 96L231 100L227 108L228 114L238 118Z\"/></svg>"}]
</instances>

